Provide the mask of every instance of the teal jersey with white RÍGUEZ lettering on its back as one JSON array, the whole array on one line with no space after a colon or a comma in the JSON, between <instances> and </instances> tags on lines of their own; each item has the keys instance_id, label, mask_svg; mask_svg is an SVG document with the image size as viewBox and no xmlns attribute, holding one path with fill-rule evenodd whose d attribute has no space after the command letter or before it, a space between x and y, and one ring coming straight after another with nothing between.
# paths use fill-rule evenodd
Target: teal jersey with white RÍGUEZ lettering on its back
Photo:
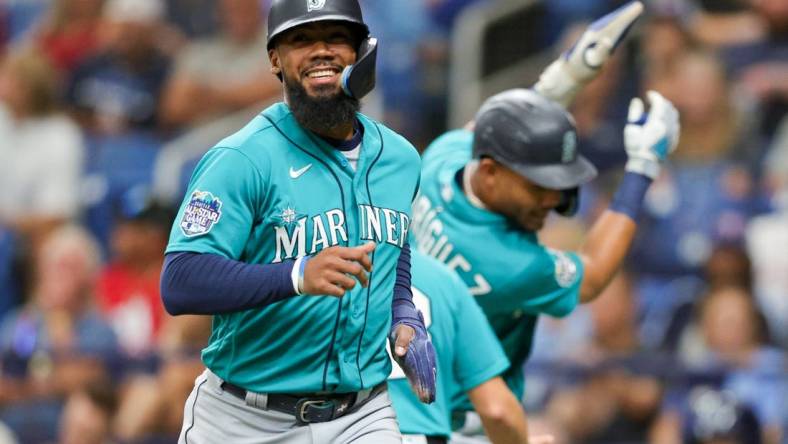
<instances>
[{"instance_id":1,"label":"teal jersey with white R\u00cdGUEZ lettering on its back","mask_svg":"<svg viewBox=\"0 0 788 444\"><path fill-rule=\"evenodd\" d=\"M476 296L512 362L504 379L522 396L522 364L538 315L565 316L574 309L583 265L576 254L544 247L536 233L467 199L456 176L471 159L472 142L471 131L456 130L425 151L412 245L454 270Z\"/></svg>"}]
</instances>

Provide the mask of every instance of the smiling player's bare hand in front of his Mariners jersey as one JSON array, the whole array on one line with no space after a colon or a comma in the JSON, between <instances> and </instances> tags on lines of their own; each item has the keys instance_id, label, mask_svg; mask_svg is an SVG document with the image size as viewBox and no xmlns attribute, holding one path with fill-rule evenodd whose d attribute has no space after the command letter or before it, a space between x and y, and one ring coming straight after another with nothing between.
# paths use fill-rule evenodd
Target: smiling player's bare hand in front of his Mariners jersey
<instances>
[{"instance_id":1,"label":"smiling player's bare hand in front of his Mariners jersey","mask_svg":"<svg viewBox=\"0 0 788 444\"><path fill-rule=\"evenodd\" d=\"M304 285L301 294L342 297L356 286L369 284L367 273L372 271L369 255L375 243L358 247L330 247L311 257L304 267Z\"/></svg>"}]
</instances>

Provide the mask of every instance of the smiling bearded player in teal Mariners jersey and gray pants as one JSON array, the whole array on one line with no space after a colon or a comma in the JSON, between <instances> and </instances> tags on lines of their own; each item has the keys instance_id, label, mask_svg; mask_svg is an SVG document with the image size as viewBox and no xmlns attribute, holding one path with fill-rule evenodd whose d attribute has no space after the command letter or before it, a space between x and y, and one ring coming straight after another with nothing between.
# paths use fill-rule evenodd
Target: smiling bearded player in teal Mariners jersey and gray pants
<instances>
[{"instance_id":1,"label":"smiling bearded player in teal Mariners jersey and gray pants","mask_svg":"<svg viewBox=\"0 0 788 444\"><path fill-rule=\"evenodd\" d=\"M418 153L358 112L376 41L357 0L274 0L268 49L284 102L205 154L167 247L167 310L214 315L180 442L400 442L389 338L435 396L407 243Z\"/></svg>"}]
</instances>

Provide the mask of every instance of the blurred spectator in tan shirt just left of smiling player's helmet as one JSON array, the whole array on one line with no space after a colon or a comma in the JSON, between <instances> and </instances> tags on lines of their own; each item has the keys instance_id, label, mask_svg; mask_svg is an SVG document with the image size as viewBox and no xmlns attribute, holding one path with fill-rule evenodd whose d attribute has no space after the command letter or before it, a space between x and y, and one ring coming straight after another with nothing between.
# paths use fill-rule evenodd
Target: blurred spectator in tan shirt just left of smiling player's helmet
<instances>
[{"instance_id":1,"label":"blurred spectator in tan shirt just left of smiling player's helmet","mask_svg":"<svg viewBox=\"0 0 788 444\"><path fill-rule=\"evenodd\" d=\"M266 53L260 1L217 4L220 34L187 46L163 91L162 119L168 125L199 125L251 106L256 112L281 96L271 64L260 56Z\"/></svg>"}]
</instances>

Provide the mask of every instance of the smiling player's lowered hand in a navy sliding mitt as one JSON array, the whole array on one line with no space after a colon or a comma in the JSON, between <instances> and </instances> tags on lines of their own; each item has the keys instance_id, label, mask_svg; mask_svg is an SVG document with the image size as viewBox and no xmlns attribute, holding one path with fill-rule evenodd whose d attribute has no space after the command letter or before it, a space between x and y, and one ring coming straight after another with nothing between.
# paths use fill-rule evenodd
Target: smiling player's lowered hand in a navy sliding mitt
<instances>
[{"instance_id":1,"label":"smiling player's lowered hand in a navy sliding mitt","mask_svg":"<svg viewBox=\"0 0 788 444\"><path fill-rule=\"evenodd\" d=\"M421 325L397 324L391 329L389 341L394 361L399 364L410 387L425 404L435 401L435 348L432 346L424 317L419 313Z\"/></svg>"}]
</instances>

